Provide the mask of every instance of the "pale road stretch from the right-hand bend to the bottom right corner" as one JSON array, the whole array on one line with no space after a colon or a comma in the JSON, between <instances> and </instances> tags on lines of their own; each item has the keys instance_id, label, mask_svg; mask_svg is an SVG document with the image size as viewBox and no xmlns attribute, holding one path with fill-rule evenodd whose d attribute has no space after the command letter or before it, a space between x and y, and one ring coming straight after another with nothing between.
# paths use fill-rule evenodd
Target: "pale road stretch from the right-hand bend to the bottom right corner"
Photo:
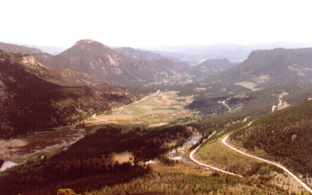
<instances>
[{"instance_id":1,"label":"pale road stretch from the right-hand bend to the bottom right corner","mask_svg":"<svg viewBox=\"0 0 312 195\"><path fill-rule=\"evenodd\" d=\"M272 162L272 161L269 161L269 160L265 160L263 158L259 158L257 156L254 156L254 155L250 155L250 154L247 154L247 153L244 153L243 151L241 150L238 150L237 148L234 148L233 146L230 146L228 143L226 143L226 140L227 140L228 136L225 136L223 139L222 139L222 143L227 146L228 148L230 148L231 150L234 150L235 152L237 153L240 153L242 155L246 155L250 158L254 158L254 159L257 159L257 160L260 160L262 162L266 162L268 164L271 164L271 165L274 165L276 167L279 167L280 169L284 170L284 172L287 172L289 175L291 175L291 177L294 177L294 179L296 179L297 182L299 182L301 184L301 186L306 189L307 191L309 191L310 193L312 193L312 189L310 187L308 187L304 182L302 182L298 177L296 177L296 175L294 175L292 172L290 172L288 169L286 169L285 167L283 167L282 165L279 165L275 162Z\"/></svg>"}]
</instances>

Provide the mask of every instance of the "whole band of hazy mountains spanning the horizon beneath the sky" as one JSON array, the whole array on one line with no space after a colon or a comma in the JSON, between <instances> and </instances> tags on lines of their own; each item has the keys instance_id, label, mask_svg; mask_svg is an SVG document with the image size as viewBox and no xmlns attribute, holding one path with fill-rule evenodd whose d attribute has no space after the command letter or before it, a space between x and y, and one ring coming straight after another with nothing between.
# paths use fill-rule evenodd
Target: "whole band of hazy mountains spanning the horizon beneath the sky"
<instances>
[{"instance_id":1,"label":"whole band of hazy mountains spanning the horizon beneath the sky","mask_svg":"<svg viewBox=\"0 0 312 195\"><path fill-rule=\"evenodd\" d=\"M286 43L280 44L295 47ZM199 82L236 85L256 90L283 83L312 81L310 48L255 50L236 66L228 59L208 59L196 66L189 66L181 61L163 58L154 52L130 47L110 48L94 40L80 40L73 47L55 56L30 47L4 43L0 46L4 47L5 51L14 53L33 53L32 56L23 54L24 66L28 66L29 61L38 61L40 66L33 66L38 70L34 70L32 66L28 69L37 71L38 76L61 85L93 85L103 82L118 85L174 85ZM228 46L228 49L240 47L218 45L216 50L223 46ZM203 46L211 47L213 46Z\"/></svg>"}]
</instances>

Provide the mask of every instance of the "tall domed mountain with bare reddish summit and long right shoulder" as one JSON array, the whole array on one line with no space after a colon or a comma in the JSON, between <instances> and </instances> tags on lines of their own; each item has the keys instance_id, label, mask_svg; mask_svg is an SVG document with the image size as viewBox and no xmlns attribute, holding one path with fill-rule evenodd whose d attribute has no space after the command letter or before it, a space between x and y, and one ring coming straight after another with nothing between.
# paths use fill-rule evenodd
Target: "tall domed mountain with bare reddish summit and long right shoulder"
<instances>
[{"instance_id":1,"label":"tall domed mountain with bare reddish summit and long right shoulder","mask_svg":"<svg viewBox=\"0 0 312 195\"><path fill-rule=\"evenodd\" d=\"M47 53L33 56L53 69L74 69L102 82L120 85L172 84L190 78L189 74L183 71L186 64L169 59L133 59L94 40L80 40L56 56Z\"/></svg>"}]
</instances>

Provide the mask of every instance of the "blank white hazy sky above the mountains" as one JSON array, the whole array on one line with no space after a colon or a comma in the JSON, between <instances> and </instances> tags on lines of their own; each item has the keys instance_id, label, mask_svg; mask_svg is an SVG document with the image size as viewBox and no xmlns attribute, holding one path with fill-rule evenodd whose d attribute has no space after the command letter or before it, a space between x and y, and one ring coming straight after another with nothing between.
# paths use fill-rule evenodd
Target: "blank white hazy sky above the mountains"
<instances>
[{"instance_id":1,"label":"blank white hazy sky above the mountains","mask_svg":"<svg viewBox=\"0 0 312 195\"><path fill-rule=\"evenodd\" d=\"M1 1L0 40L69 47L312 43L312 1Z\"/></svg>"}]
</instances>

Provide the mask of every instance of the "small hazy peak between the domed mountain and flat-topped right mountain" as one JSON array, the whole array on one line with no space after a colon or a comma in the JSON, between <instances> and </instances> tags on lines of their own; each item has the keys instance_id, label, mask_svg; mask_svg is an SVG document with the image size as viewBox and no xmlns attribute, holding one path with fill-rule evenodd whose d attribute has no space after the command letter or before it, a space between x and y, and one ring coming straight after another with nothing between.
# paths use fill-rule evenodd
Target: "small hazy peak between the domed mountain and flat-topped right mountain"
<instances>
[{"instance_id":1,"label":"small hazy peak between the domed mountain and flat-topped right mountain","mask_svg":"<svg viewBox=\"0 0 312 195\"><path fill-rule=\"evenodd\" d=\"M208 59L197 66L191 67L191 73L196 78L210 76L233 66L228 59Z\"/></svg>"}]
</instances>

